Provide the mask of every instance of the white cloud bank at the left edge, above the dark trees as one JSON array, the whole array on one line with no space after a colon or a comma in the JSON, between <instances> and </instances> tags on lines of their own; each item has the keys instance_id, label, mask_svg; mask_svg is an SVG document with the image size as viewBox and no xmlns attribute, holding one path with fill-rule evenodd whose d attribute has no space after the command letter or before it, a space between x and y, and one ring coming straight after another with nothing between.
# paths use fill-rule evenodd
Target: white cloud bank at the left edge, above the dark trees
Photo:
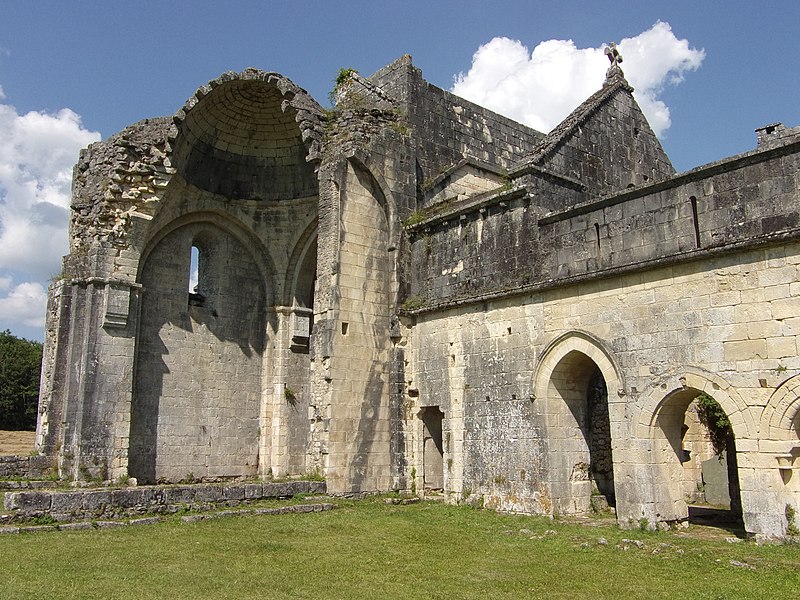
<instances>
[{"instance_id":1,"label":"white cloud bank at the left edge, above the dark trees","mask_svg":"<svg viewBox=\"0 0 800 600\"><path fill-rule=\"evenodd\" d=\"M43 283L68 249L72 166L99 139L68 108L20 114L0 102L0 318L12 328L43 322Z\"/></svg>"}]
</instances>

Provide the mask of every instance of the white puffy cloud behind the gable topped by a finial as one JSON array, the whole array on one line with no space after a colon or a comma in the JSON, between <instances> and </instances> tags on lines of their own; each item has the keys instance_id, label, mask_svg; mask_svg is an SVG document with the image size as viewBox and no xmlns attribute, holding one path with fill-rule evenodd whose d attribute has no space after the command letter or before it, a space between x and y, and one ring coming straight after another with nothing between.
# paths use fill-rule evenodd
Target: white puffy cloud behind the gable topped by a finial
<instances>
[{"instance_id":1,"label":"white puffy cloud behind the gable topped by a finial","mask_svg":"<svg viewBox=\"0 0 800 600\"><path fill-rule=\"evenodd\" d=\"M653 27L618 48L625 77L656 135L669 128L669 108L659 94L700 67L705 51L675 37L668 23ZM530 52L519 40L497 37L478 48L472 67L455 77L452 91L467 100L540 131L550 131L603 84L608 59L599 48L572 40L548 40Z\"/></svg>"}]
</instances>

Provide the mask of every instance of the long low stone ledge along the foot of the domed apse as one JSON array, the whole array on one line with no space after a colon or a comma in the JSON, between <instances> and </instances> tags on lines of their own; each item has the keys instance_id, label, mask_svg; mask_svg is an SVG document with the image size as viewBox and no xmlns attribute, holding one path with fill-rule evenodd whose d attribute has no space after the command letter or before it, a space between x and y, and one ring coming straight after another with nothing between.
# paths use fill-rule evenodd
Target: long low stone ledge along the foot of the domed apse
<instances>
[{"instance_id":1,"label":"long low stone ledge along the foot of the domed apse","mask_svg":"<svg viewBox=\"0 0 800 600\"><path fill-rule=\"evenodd\" d=\"M211 510L297 494L324 494L325 482L192 484L92 490L6 492L0 524L45 515L58 522L112 519L182 510Z\"/></svg>"}]
</instances>

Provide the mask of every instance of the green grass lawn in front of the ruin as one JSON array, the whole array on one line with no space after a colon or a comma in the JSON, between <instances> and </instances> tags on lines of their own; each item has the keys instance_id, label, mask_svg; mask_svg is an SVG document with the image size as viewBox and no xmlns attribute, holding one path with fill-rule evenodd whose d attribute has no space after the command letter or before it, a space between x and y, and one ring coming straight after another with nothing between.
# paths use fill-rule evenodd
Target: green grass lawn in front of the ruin
<instances>
[{"instance_id":1,"label":"green grass lawn in front of the ruin","mask_svg":"<svg viewBox=\"0 0 800 600\"><path fill-rule=\"evenodd\" d=\"M623 550L623 538L645 547ZM7 600L795 598L800 547L373 499L324 513L6 535L0 590Z\"/></svg>"}]
</instances>

